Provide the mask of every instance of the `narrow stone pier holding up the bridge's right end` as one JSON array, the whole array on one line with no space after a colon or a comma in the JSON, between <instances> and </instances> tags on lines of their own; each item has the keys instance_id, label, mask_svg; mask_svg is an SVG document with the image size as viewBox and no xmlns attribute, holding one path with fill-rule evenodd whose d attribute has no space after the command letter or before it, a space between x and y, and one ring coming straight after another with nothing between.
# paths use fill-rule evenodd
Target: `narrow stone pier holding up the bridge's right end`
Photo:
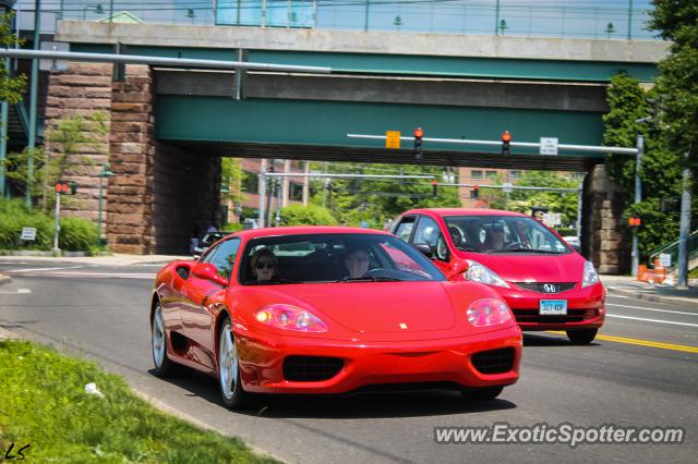
<instances>
[{"instance_id":1,"label":"narrow stone pier holding up the bridge's right end","mask_svg":"<svg viewBox=\"0 0 698 464\"><path fill-rule=\"evenodd\" d=\"M629 272L630 248L622 223L624 195L603 164L587 176L583 195L583 255L600 273Z\"/></svg>"}]
</instances>

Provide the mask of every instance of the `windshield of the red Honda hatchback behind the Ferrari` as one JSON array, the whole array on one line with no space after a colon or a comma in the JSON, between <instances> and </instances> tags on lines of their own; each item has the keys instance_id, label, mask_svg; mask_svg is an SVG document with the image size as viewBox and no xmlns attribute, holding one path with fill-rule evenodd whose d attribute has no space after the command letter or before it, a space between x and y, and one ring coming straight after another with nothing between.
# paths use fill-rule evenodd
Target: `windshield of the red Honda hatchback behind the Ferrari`
<instances>
[{"instance_id":1,"label":"windshield of the red Honda hatchback behind the Ferrari","mask_svg":"<svg viewBox=\"0 0 698 464\"><path fill-rule=\"evenodd\" d=\"M444 218L456 248L479 253L571 253L535 219L522 216L449 216Z\"/></svg>"}]
</instances>

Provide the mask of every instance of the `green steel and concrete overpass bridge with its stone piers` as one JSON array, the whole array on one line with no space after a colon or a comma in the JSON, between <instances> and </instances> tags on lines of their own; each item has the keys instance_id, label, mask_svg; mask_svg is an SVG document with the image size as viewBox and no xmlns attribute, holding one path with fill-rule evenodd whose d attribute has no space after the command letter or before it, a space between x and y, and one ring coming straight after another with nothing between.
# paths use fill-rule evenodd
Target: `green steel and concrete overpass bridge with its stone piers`
<instances>
[{"instance_id":1,"label":"green steel and concrete overpass bridge with its stone piers","mask_svg":"<svg viewBox=\"0 0 698 464\"><path fill-rule=\"evenodd\" d=\"M417 163L410 149L385 150L347 133L516 142L555 136L600 145L605 88L618 72L651 83L667 45L661 41L445 36L261 27L59 22L56 41L71 51L243 60L330 66L329 75L212 72L71 63L51 71L46 121L105 111L104 149L75 172L95 186L109 161L106 231L111 248L168 253L184 247L195 223L217 211L219 157ZM50 149L50 147L48 147ZM105 155L108 154L108 155ZM603 155L509 157L478 147L424 145L422 163L589 172L583 230L602 271L623 270L619 196L605 179ZM601 166L601 167L600 167ZM84 190L76 213L96 210Z\"/></svg>"}]
</instances>

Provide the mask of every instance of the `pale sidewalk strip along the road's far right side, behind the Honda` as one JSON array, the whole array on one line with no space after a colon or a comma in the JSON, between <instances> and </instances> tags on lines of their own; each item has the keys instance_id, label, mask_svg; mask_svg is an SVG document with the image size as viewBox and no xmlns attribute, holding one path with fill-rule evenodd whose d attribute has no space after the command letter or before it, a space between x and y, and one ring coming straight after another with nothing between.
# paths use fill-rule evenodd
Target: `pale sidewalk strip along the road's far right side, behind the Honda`
<instances>
[{"instance_id":1,"label":"pale sidewalk strip along the road's far right side, behind the Honda","mask_svg":"<svg viewBox=\"0 0 698 464\"><path fill-rule=\"evenodd\" d=\"M601 282L610 294L698 309L698 282L695 280L688 282L688 290L640 282L628 276L601 276Z\"/></svg>"}]
</instances>

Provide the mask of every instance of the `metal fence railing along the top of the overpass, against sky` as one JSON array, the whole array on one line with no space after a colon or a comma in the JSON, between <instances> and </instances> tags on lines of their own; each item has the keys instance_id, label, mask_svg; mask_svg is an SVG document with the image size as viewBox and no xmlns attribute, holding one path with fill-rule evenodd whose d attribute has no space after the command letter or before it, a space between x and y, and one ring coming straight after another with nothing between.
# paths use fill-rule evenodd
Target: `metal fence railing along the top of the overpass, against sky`
<instances>
[{"instance_id":1,"label":"metal fence railing along the top of the overpass, against sky","mask_svg":"<svg viewBox=\"0 0 698 464\"><path fill-rule=\"evenodd\" d=\"M33 2L21 2L32 28ZM48 0L43 29L61 19L428 34L654 39L649 0ZM45 30L50 32L50 30Z\"/></svg>"}]
</instances>

